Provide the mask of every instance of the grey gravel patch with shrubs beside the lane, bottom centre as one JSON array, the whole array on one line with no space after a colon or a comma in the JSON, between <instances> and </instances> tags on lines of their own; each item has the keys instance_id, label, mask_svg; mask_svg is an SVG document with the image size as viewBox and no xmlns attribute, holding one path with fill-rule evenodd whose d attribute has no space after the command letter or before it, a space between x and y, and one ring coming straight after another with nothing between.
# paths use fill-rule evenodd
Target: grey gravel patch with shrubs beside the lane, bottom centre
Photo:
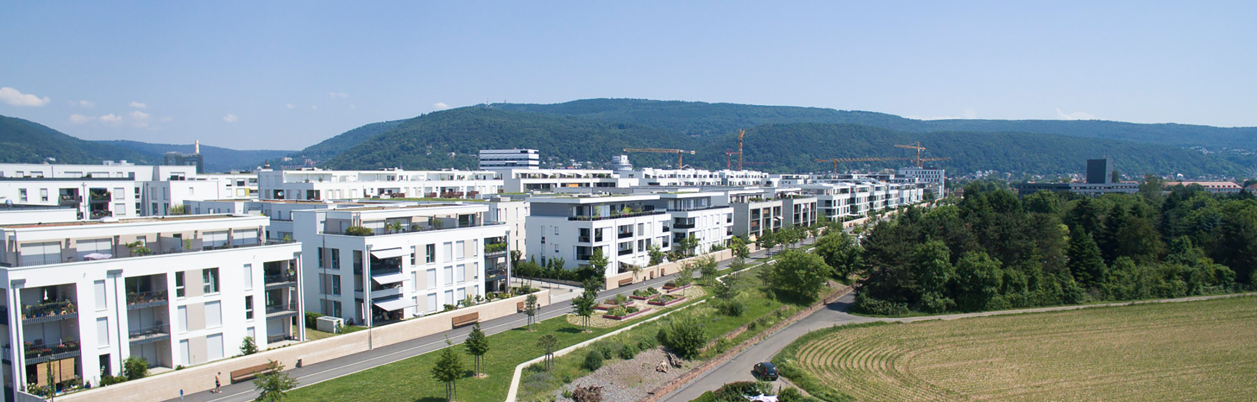
<instances>
[{"instance_id":1,"label":"grey gravel patch with shrubs beside the lane, bottom centre","mask_svg":"<svg viewBox=\"0 0 1257 402\"><path fill-rule=\"evenodd\" d=\"M669 366L667 373L660 373L655 371L659 362L667 362L662 348L644 350L631 361L617 361L602 366L598 371L572 381L554 393L554 399L572 401L572 398L563 397L564 389L573 391L578 387L601 386L603 402L634 402L646 397L650 389L680 377L694 366L693 362L685 362L684 367Z\"/></svg>"}]
</instances>

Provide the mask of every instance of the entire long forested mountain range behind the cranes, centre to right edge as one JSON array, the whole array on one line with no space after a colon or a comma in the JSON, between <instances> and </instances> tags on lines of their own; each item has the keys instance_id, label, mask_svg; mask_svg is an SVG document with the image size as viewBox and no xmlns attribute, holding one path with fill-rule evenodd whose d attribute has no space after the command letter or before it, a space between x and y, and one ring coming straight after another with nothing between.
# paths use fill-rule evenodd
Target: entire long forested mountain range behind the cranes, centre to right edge
<instances>
[{"instance_id":1,"label":"entire long forested mountain range behind the cranes, centre to right edge","mask_svg":"<svg viewBox=\"0 0 1257 402\"><path fill-rule=\"evenodd\" d=\"M380 124L380 126L376 126ZM730 103L586 99L559 104L493 104L368 124L297 155L332 168L474 168L481 148L535 148L543 158L610 161L622 148L695 149L686 165L724 168L747 129L748 168L820 172L815 158L908 157L896 143L920 141L935 166L1070 173L1086 158L1111 157L1129 175L1253 176L1257 157L1204 155L1188 146L1257 148L1257 128L1136 124L1105 121L916 121L874 112ZM370 132L371 134L365 134ZM334 146L333 146L334 144ZM675 165L675 156L634 153L637 166ZM841 168L899 167L847 163Z\"/></svg>"}]
</instances>

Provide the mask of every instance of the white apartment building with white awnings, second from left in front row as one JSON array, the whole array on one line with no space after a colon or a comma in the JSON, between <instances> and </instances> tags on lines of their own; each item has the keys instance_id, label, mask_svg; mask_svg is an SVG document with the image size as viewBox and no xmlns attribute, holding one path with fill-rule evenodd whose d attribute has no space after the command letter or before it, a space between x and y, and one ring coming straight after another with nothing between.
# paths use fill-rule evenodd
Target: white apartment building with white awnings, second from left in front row
<instances>
[{"instance_id":1,"label":"white apartment building with white awnings, second from left in front row","mask_svg":"<svg viewBox=\"0 0 1257 402\"><path fill-rule=\"evenodd\" d=\"M509 253L485 253L509 234L485 220L488 210L469 202L292 211L293 236L309 256L302 266L312 284L307 312L381 325L483 296L486 259ZM347 235L352 226L371 235Z\"/></svg>"}]
</instances>

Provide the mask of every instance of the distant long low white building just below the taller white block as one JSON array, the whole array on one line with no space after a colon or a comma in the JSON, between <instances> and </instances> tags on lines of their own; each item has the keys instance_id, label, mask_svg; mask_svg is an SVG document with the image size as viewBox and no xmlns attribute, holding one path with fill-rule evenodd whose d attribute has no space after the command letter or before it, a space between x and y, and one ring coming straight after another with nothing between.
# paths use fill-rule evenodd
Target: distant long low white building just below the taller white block
<instances>
[{"instance_id":1,"label":"distant long low white building just below the taller white block","mask_svg":"<svg viewBox=\"0 0 1257 402\"><path fill-rule=\"evenodd\" d=\"M622 172L583 168L513 168L502 173L505 192L553 191L576 187L636 187L637 180L622 177Z\"/></svg>"}]
</instances>

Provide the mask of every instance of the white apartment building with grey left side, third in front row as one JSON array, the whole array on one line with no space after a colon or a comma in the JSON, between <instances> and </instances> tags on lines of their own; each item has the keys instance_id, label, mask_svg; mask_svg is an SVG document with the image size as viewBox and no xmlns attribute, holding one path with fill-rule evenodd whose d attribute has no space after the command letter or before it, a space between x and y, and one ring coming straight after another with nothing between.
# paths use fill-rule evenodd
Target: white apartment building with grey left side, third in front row
<instances>
[{"instance_id":1,"label":"white apartment building with grey left side, third in front row","mask_svg":"<svg viewBox=\"0 0 1257 402\"><path fill-rule=\"evenodd\" d=\"M672 216L656 209L659 195L535 196L528 201L528 255L546 264L562 259L563 268L590 263L595 249L607 258L607 275L628 265L647 266L651 245L671 250Z\"/></svg>"}]
</instances>

